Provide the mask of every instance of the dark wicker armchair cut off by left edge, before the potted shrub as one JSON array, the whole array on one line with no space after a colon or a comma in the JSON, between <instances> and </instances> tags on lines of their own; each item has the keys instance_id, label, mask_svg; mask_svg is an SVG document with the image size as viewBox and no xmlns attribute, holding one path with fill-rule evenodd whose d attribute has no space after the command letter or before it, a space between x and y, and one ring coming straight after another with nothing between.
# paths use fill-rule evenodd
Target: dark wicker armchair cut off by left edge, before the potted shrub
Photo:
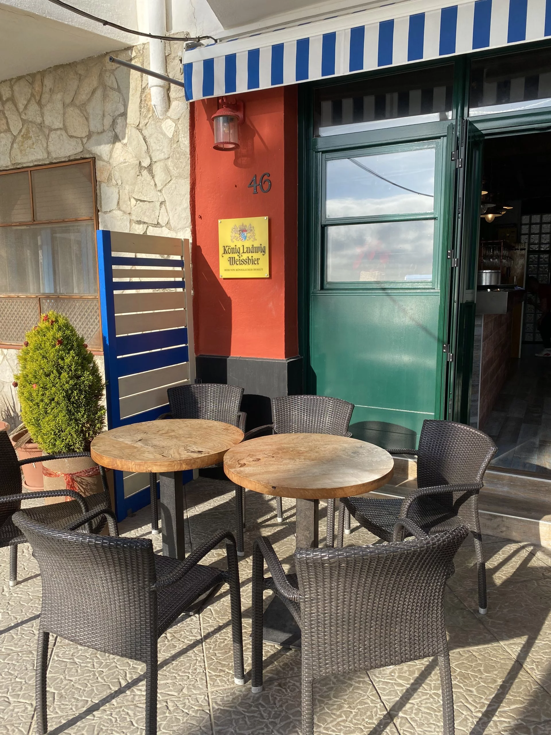
<instances>
[{"instance_id":1,"label":"dark wicker armchair cut off by left edge, before the potted shrub","mask_svg":"<svg viewBox=\"0 0 551 735\"><path fill-rule=\"evenodd\" d=\"M111 498L104 467L100 467L101 480L104 492L88 495L83 498L79 492L73 490L37 490L25 492L21 484L21 465L31 462L44 462L48 459L68 459L70 457L90 456L90 452L71 454L48 454L47 456L18 459L10 437L6 431L0 431L0 548L10 547L10 587L17 584L17 549L19 544L26 543L24 534L12 521L12 514L21 509L21 501L31 501L37 498L73 498L66 503L54 503L47 506L27 508L26 513L36 523L43 523L52 528L66 528L90 510L101 509L104 513L94 519L89 530L94 533L101 531L106 523L106 517L111 515Z\"/></svg>"}]
</instances>

